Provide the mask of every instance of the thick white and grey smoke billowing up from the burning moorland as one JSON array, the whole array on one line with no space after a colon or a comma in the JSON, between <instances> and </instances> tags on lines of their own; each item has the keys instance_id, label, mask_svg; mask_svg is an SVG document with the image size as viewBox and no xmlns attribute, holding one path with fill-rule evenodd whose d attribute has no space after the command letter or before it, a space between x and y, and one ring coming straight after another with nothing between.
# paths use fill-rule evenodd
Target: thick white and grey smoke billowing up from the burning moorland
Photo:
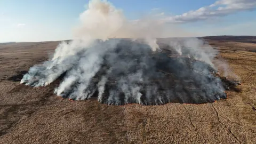
<instances>
[{"instance_id":1,"label":"thick white and grey smoke billowing up from the burning moorland","mask_svg":"<svg viewBox=\"0 0 256 144\"><path fill-rule=\"evenodd\" d=\"M79 18L75 39L60 43L52 59L31 67L21 83L46 86L65 74L55 94L74 100L98 97L108 105L226 98L212 63L217 51L202 40L157 39L173 27L150 17L128 21L107 1L90 1Z\"/></svg>"}]
</instances>

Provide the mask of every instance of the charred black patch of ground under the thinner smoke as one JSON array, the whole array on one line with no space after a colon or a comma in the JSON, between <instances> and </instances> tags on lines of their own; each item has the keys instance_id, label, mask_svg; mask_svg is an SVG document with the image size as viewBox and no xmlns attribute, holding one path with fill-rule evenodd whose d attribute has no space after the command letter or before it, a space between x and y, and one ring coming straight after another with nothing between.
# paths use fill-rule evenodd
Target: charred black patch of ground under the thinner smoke
<instances>
[{"instance_id":1,"label":"charred black patch of ground under the thinner smoke","mask_svg":"<svg viewBox=\"0 0 256 144\"><path fill-rule=\"evenodd\" d=\"M186 53L188 51L186 47L183 47L182 51L186 55L189 54ZM217 71L210 65L195 60L193 55L189 56L179 55L168 46L161 51L152 52L148 45L123 41L116 49L106 53L101 69L93 77L86 91L92 92L92 97L98 97L99 92L95 87L102 75L108 75L108 80L100 102L108 105L125 104L125 93L118 84L123 77L126 77L124 83L127 85L142 87L140 90L142 105L161 105L167 102L197 104L214 102L227 98L224 89L236 90L234 88L236 82L219 77ZM111 73L107 74L109 69ZM138 71L142 73L144 80L129 82L130 79L127 77ZM62 97L69 98L70 93L65 93ZM118 97L118 102L115 99L109 101L110 94ZM128 101L137 102L132 97Z\"/></svg>"}]
</instances>

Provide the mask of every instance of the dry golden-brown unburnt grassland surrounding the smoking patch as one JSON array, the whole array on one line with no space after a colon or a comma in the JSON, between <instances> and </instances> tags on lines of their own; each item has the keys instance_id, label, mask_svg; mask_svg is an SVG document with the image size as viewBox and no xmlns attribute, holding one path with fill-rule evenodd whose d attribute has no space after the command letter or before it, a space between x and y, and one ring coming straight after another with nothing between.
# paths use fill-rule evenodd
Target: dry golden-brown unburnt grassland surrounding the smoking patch
<instances>
[{"instance_id":1,"label":"dry golden-brown unburnt grassland surrounding the smoking patch","mask_svg":"<svg viewBox=\"0 0 256 144\"><path fill-rule=\"evenodd\" d=\"M0 143L254 143L256 53L250 51L256 44L207 41L241 77L242 91L227 91L228 99L214 103L161 106L60 99L53 94L58 81L21 85L29 67L46 60L59 42L0 44Z\"/></svg>"}]
</instances>

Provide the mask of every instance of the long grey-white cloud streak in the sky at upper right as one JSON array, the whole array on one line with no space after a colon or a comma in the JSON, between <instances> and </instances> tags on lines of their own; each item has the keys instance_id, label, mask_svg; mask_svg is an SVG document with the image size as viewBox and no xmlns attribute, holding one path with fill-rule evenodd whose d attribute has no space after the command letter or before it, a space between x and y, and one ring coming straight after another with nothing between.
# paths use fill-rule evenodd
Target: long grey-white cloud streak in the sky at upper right
<instances>
[{"instance_id":1,"label":"long grey-white cloud streak in the sky at upper right","mask_svg":"<svg viewBox=\"0 0 256 144\"><path fill-rule=\"evenodd\" d=\"M210 18L222 17L239 11L249 11L256 8L255 0L219 0L215 3L189 11L181 15L167 17L164 20L171 23L185 23Z\"/></svg>"}]
</instances>

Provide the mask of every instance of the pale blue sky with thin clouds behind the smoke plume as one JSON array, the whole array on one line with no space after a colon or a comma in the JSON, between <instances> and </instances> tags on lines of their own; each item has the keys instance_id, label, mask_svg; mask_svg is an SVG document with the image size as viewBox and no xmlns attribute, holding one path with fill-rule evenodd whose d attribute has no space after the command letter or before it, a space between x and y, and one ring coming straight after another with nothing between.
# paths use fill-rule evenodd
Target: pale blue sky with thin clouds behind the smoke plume
<instances>
[{"instance_id":1,"label":"pale blue sky with thin clouds behind the smoke plume","mask_svg":"<svg viewBox=\"0 0 256 144\"><path fill-rule=\"evenodd\" d=\"M0 42L72 38L88 0L1 0ZM256 35L255 0L109 0L129 20L154 13L195 36Z\"/></svg>"}]
</instances>

